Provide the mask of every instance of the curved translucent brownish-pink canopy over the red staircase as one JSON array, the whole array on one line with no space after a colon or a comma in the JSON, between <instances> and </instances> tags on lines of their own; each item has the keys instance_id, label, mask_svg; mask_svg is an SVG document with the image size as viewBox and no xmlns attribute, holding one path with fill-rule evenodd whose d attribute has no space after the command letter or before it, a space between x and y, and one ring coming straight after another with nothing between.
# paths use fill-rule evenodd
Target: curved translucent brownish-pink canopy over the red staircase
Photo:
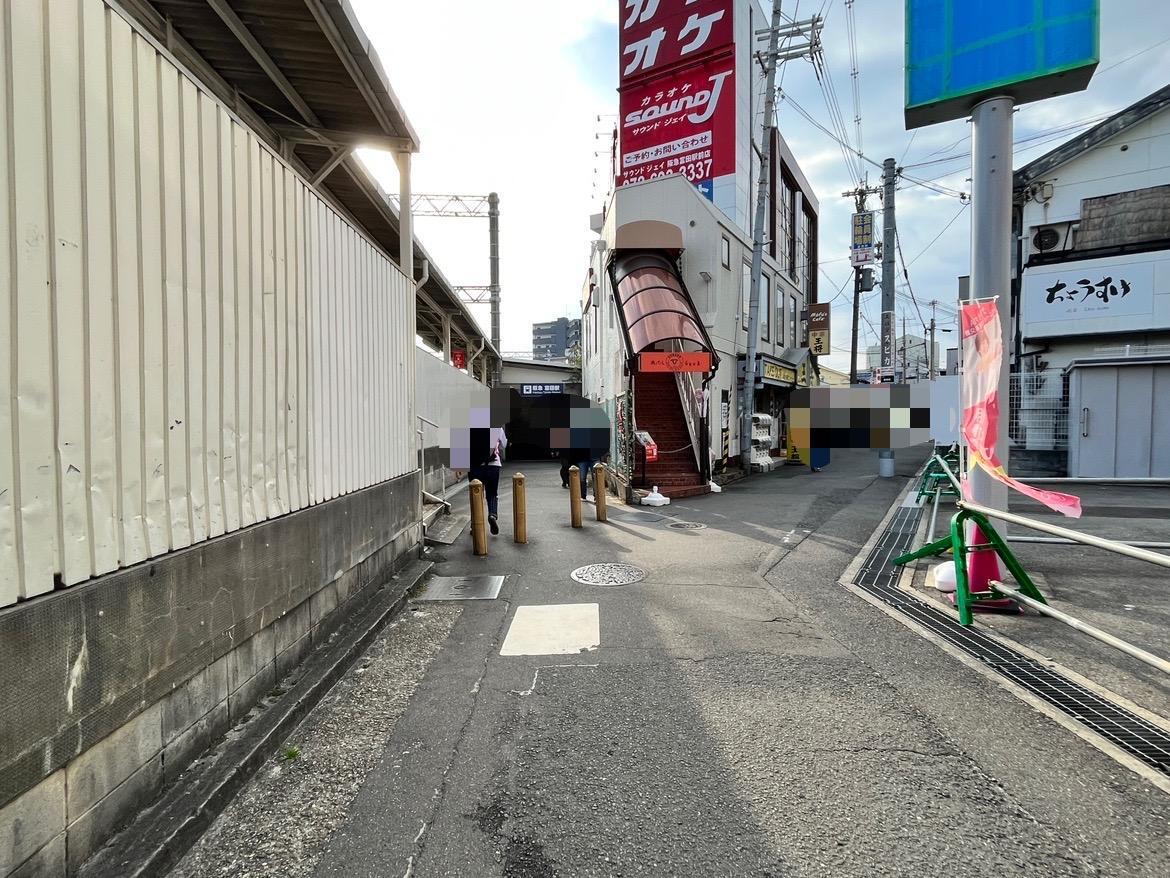
<instances>
[{"instance_id":1,"label":"curved translucent brownish-pink canopy over the red staircase","mask_svg":"<svg viewBox=\"0 0 1170 878\"><path fill-rule=\"evenodd\" d=\"M687 350L709 351L717 365L718 357L669 259L658 253L621 254L611 270L632 357L681 342Z\"/></svg>"}]
</instances>

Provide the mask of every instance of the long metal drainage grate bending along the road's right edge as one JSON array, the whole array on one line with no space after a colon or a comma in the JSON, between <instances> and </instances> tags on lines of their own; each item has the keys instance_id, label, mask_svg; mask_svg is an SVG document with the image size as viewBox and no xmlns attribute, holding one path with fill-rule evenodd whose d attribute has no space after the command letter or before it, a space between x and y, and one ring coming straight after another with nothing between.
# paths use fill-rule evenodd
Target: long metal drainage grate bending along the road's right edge
<instances>
[{"instance_id":1,"label":"long metal drainage grate bending along the road's right edge","mask_svg":"<svg viewBox=\"0 0 1170 878\"><path fill-rule=\"evenodd\" d=\"M977 629L897 588L900 568L889 562L909 550L921 510L900 508L866 557L854 584L977 658L1038 698L1113 742L1148 766L1170 775L1170 734L1067 677L1009 649Z\"/></svg>"}]
</instances>

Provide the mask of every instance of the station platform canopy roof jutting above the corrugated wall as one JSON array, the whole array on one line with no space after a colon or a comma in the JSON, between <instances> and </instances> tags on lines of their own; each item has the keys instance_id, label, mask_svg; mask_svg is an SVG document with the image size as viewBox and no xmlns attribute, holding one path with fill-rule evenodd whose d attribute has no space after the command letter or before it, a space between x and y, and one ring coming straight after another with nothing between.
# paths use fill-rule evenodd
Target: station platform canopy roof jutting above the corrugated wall
<instances>
[{"instance_id":1,"label":"station platform canopy roof jutting above the corrugated wall","mask_svg":"<svg viewBox=\"0 0 1170 878\"><path fill-rule=\"evenodd\" d=\"M417 152L419 138L349 0L118 0L121 7L401 262L398 211L353 150ZM484 341L459 294L414 242L429 277L418 334L442 348L441 320L468 345Z\"/></svg>"}]
</instances>

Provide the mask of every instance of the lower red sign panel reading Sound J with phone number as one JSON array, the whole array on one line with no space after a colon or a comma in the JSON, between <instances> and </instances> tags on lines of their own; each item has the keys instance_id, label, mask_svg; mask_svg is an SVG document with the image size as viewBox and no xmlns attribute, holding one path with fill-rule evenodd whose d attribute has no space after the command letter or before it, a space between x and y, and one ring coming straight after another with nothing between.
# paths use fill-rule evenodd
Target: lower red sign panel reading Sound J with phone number
<instances>
[{"instance_id":1,"label":"lower red sign panel reading Sound J with phone number","mask_svg":"<svg viewBox=\"0 0 1170 878\"><path fill-rule=\"evenodd\" d=\"M735 173L734 55L626 88L620 104L619 185L681 173L701 186Z\"/></svg>"}]
</instances>

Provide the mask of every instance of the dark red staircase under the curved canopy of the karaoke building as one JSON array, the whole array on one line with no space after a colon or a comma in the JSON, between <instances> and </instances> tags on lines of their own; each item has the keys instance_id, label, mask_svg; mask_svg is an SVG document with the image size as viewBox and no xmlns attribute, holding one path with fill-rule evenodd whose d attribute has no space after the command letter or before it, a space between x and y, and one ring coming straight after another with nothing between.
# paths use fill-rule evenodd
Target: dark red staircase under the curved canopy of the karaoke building
<instances>
[{"instance_id":1,"label":"dark red staircase under the curved canopy of the karaoke building","mask_svg":"<svg viewBox=\"0 0 1170 878\"><path fill-rule=\"evenodd\" d=\"M670 372L639 372L634 377L634 420L658 444L659 459L646 465L642 482L641 448L634 445L634 485L651 488L668 498L710 493L695 465L687 418L679 399L679 385ZM680 451L681 450L681 451Z\"/></svg>"}]
</instances>

